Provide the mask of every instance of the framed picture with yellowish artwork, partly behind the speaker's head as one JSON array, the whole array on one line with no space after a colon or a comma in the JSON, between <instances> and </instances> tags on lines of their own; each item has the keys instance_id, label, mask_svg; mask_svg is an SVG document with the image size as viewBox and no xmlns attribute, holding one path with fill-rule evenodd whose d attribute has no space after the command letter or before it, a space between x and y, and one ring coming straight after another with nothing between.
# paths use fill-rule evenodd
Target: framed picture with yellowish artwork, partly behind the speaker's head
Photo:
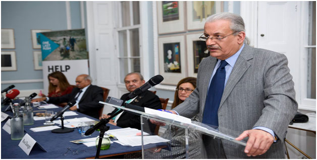
<instances>
[{"instance_id":1,"label":"framed picture with yellowish artwork, partly behind the speaker's head","mask_svg":"<svg viewBox=\"0 0 317 160\"><path fill-rule=\"evenodd\" d=\"M187 29L203 29L206 18L216 13L223 12L221 1L187 1Z\"/></svg>"}]
</instances>

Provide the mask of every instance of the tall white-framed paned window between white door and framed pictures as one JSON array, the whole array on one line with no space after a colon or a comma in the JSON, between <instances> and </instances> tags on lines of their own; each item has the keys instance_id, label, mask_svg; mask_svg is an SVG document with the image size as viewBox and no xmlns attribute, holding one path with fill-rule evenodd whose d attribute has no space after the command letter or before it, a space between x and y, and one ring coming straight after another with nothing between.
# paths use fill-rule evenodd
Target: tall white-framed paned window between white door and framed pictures
<instances>
[{"instance_id":1,"label":"tall white-framed paned window between white door and framed pictures","mask_svg":"<svg viewBox=\"0 0 317 160\"><path fill-rule=\"evenodd\" d=\"M120 83L129 72L141 72L140 66L140 11L139 2L120 2L118 34L118 58Z\"/></svg>"}]
</instances>

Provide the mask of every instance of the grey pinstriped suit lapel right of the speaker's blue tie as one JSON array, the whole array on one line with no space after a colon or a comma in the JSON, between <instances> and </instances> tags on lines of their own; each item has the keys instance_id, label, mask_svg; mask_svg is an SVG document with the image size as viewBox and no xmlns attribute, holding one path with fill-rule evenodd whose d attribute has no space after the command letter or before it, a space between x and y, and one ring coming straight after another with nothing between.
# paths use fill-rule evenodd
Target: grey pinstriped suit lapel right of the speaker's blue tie
<instances>
[{"instance_id":1,"label":"grey pinstriped suit lapel right of the speaker's blue tie","mask_svg":"<svg viewBox=\"0 0 317 160\"><path fill-rule=\"evenodd\" d=\"M234 64L234 67L231 71L231 74L229 76L228 82L226 84L223 96L220 101L219 109L222 107L228 96L230 95L233 88L236 86L236 84L241 79L242 75L245 73L245 71L250 67L250 63L248 60L253 59L253 48L249 45L245 44L244 48L242 49L236 63Z\"/></svg>"}]
</instances>

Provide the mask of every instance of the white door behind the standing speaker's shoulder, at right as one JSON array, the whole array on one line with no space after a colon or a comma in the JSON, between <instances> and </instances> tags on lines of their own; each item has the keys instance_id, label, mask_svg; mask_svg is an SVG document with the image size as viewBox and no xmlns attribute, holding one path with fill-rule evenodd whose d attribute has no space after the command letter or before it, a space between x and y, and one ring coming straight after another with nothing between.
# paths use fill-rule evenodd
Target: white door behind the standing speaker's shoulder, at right
<instances>
[{"instance_id":1,"label":"white door behind the standing speaker's shoulder, at right","mask_svg":"<svg viewBox=\"0 0 317 160\"><path fill-rule=\"evenodd\" d=\"M285 54L292 75L299 75L299 13L298 2L258 2L257 48Z\"/></svg>"}]
</instances>

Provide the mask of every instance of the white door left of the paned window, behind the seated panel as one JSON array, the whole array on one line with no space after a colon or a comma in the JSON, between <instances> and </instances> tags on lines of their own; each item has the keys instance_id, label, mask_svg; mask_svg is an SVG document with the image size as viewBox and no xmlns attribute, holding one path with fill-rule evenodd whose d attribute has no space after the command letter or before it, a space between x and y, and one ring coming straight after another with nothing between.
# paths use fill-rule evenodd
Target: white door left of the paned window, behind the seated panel
<instances>
[{"instance_id":1,"label":"white door left of the paned window, behind the seated panel","mask_svg":"<svg viewBox=\"0 0 317 160\"><path fill-rule=\"evenodd\" d=\"M87 2L87 26L94 84L110 89L109 96L118 97L113 2ZM109 113L107 107L103 113Z\"/></svg>"}]
</instances>

